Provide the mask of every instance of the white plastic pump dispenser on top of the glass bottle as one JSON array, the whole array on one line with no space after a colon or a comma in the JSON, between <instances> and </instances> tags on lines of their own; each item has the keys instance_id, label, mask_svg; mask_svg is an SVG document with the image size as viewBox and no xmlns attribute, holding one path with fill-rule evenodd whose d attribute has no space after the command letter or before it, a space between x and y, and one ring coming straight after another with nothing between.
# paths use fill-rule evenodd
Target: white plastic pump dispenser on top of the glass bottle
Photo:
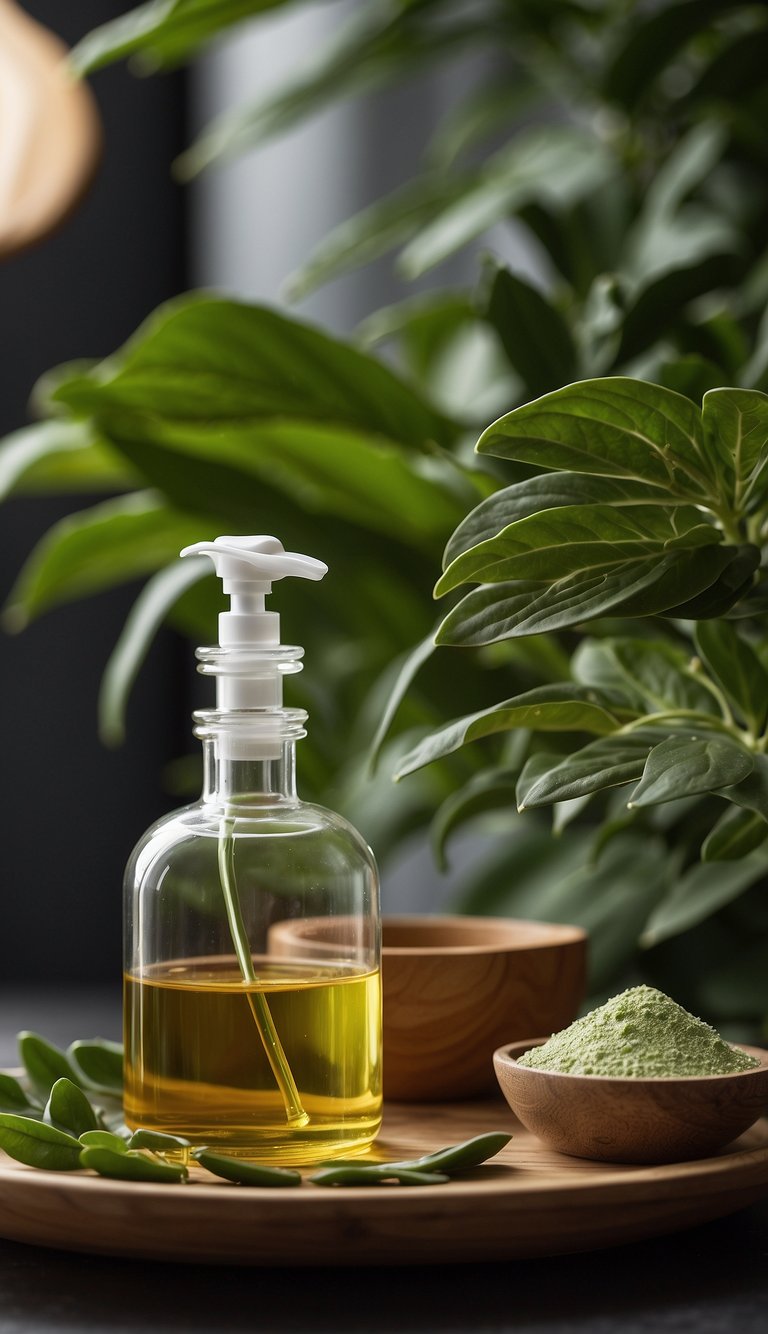
<instances>
[{"instance_id":1,"label":"white plastic pump dispenser on top of the glass bottle","mask_svg":"<svg viewBox=\"0 0 768 1334\"><path fill-rule=\"evenodd\" d=\"M183 556L211 556L229 611L219 616L219 646L199 651L200 671L215 675L220 710L280 708L283 676L301 671L303 650L280 644L280 616L264 599L277 579L323 579L328 566L285 551L277 538L221 536L184 547Z\"/></svg>"}]
</instances>

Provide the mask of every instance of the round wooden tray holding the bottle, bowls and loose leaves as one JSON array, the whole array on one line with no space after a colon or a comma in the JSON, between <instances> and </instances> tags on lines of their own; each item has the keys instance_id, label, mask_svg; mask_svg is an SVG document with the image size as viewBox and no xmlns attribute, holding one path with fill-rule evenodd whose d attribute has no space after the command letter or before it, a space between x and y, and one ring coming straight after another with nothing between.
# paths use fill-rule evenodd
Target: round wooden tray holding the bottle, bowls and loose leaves
<instances>
[{"instance_id":1,"label":"round wooden tray holding the bottle, bowls and loose leaves","mask_svg":"<svg viewBox=\"0 0 768 1334\"><path fill-rule=\"evenodd\" d=\"M513 1130L492 1163L445 1186L241 1189L44 1173L0 1155L0 1235L127 1258L228 1265L431 1265L616 1246L768 1194L768 1118L715 1158L624 1167L544 1149L500 1101L397 1105L379 1142L416 1157Z\"/></svg>"}]
</instances>

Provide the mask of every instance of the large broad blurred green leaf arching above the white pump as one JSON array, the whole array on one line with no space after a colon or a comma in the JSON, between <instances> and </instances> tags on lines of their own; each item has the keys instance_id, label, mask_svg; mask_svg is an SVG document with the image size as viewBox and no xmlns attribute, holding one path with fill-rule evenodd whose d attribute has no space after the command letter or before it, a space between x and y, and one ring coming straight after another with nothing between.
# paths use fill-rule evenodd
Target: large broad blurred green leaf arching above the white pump
<instances>
[{"instance_id":1,"label":"large broad blurred green leaf arching above the white pump","mask_svg":"<svg viewBox=\"0 0 768 1334\"><path fill-rule=\"evenodd\" d=\"M428 451L455 428L371 356L261 305L191 295L161 305L115 358L59 384L76 412L252 430L285 418Z\"/></svg>"}]
</instances>

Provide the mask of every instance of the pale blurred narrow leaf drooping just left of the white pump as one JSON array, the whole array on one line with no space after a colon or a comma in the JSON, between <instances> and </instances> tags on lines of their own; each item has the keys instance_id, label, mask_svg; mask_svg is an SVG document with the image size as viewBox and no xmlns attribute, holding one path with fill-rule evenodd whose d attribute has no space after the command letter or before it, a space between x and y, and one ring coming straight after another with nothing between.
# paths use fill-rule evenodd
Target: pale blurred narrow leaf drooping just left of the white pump
<instances>
[{"instance_id":1,"label":"pale blurred narrow leaf drooping just left of the white pump","mask_svg":"<svg viewBox=\"0 0 768 1334\"><path fill-rule=\"evenodd\" d=\"M181 594L209 574L211 563L204 558L179 560L153 575L139 594L99 690L99 735L105 746L117 746L125 738L128 695L160 626Z\"/></svg>"}]
</instances>

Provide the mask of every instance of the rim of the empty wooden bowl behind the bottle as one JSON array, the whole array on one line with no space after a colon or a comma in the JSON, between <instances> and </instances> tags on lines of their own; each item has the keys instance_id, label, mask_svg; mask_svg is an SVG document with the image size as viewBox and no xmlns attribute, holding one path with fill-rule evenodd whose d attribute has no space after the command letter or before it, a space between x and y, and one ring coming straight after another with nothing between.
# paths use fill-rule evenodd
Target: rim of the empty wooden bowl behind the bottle
<instances>
[{"instance_id":1,"label":"rim of the empty wooden bowl behind the bottle","mask_svg":"<svg viewBox=\"0 0 768 1334\"><path fill-rule=\"evenodd\" d=\"M497 940L484 940L480 944L472 944L465 942L463 944L387 944L385 931L387 927L393 926L397 930L408 930L415 927L420 930L456 930L456 935L460 936L461 931L471 934L477 928L484 931L499 931L500 934L507 931L509 939ZM512 939L512 934L523 928L523 939ZM529 938L525 935L529 931ZM463 914L396 914L385 915L381 919L381 952L385 956L413 956L425 955L427 958L437 958L439 955L457 955L457 954L519 954L523 950L547 950L557 944L576 944L587 940L587 931L580 926L572 926L564 922L536 922L528 920L525 918L491 918L491 916L471 916Z\"/></svg>"}]
</instances>

